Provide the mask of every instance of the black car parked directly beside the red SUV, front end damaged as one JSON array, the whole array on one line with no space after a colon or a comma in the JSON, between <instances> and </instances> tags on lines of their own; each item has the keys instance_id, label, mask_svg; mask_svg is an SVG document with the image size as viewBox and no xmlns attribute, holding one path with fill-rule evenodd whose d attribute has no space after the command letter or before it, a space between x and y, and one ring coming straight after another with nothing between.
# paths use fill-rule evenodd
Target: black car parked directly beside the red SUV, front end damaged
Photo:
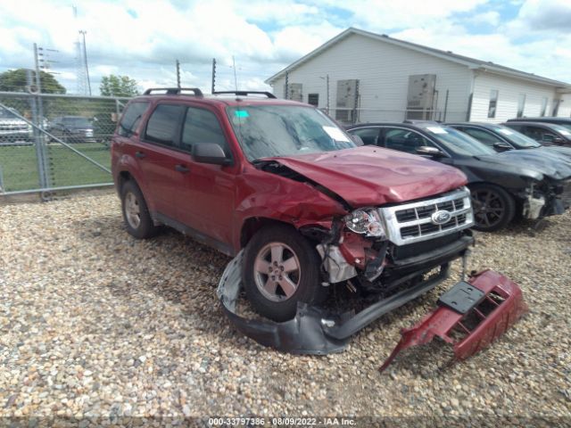
<instances>
[{"instance_id":1,"label":"black car parked directly beside the red SUV, front end damaged","mask_svg":"<svg viewBox=\"0 0 571 428\"><path fill-rule=\"evenodd\" d=\"M560 214L571 203L571 165L563 159L522 151L497 153L436 122L367 123L347 129L365 144L417 153L462 170L468 176L477 230L499 230L516 214Z\"/></svg>"}]
</instances>

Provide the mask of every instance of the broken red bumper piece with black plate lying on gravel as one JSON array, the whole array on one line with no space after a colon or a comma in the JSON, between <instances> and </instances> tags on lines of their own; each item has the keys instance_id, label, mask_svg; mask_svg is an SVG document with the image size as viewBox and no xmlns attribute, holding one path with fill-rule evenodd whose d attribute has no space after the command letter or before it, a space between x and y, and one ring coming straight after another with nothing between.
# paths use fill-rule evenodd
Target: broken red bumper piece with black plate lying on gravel
<instances>
[{"instance_id":1,"label":"broken red bumper piece with black plate lying on gravel","mask_svg":"<svg viewBox=\"0 0 571 428\"><path fill-rule=\"evenodd\" d=\"M492 270L472 276L468 284L485 293L465 314L447 306L434 309L417 325L402 330L401 342L386 358L380 371L391 364L396 355L412 346L431 342L434 336L453 344L454 355L462 360L484 349L514 325L527 306L519 286ZM460 336L459 339L456 339Z\"/></svg>"}]
</instances>

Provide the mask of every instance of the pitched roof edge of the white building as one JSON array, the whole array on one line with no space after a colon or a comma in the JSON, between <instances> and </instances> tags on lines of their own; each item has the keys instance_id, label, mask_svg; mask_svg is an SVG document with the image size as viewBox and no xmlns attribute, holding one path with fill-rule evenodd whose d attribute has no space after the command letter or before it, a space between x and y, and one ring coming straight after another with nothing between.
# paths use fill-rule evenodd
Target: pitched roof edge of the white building
<instances>
[{"instance_id":1,"label":"pitched roof edge of the white building","mask_svg":"<svg viewBox=\"0 0 571 428\"><path fill-rule=\"evenodd\" d=\"M273 81L275 81L277 78L281 78L282 76L284 76L286 71L291 71L296 69L304 62L310 61L312 58L318 56L320 53L325 52L331 46L336 45L337 43L343 41L343 39L350 37L353 34L360 35L363 37L373 38L375 40L379 40L391 45L401 46L403 48L411 49L413 51L417 51L420 53L433 55L443 60L465 65L470 69L485 70L503 76L509 76L512 78L521 78L524 80L533 81L534 83L539 83L542 85L556 86L562 89L571 89L571 84L568 84L566 82L560 82L559 80L553 80L551 78L542 78L541 76L537 76L534 73L527 73L521 70L510 69L509 67L504 67L503 65L495 64L489 61L476 60L475 58L459 55L458 53L452 53L451 51L442 51L440 49L434 49L433 47L417 45L416 43L405 42L404 40L399 40L398 38L388 37L385 34L379 35L376 33L371 33L369 31L364 31L362 29L353 29L353 28L345 29L342 33L333 37L325 44L320 45L317 49L311 51L305 56L302 56L302 58L300 58L296 62L293 62L287 67L285 67L284 70L277 72L271 78L265 80L265 83L267 84L273 83Z\"/></svg>"}]
</instances>

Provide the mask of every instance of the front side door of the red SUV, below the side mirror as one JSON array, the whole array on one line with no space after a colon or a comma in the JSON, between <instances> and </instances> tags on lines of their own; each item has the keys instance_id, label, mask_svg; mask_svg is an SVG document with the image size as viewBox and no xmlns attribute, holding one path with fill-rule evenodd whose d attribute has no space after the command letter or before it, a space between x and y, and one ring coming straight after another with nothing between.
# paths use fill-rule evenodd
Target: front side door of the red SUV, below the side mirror
<instances>
[{"instance_id":1,"label":"front side door of the red SUV, below the side mirror","mask_svg":"<svg viewBox=\"0 0 571 428\"><path fill-rule=\"evenodd\" d=\"M192 152L194 144L219 144L228 159L232 159L227 136L213 111L188 107L183 120L180 148ZM211 165L193 161L188 154L190 171L183 177L184 185L178 195L178 221L195 232L210 236L211 243L228 252L232 242L236 174L230 166ZM227 248L224 248L228 246Z\"/></svg>"}]
</instances>

